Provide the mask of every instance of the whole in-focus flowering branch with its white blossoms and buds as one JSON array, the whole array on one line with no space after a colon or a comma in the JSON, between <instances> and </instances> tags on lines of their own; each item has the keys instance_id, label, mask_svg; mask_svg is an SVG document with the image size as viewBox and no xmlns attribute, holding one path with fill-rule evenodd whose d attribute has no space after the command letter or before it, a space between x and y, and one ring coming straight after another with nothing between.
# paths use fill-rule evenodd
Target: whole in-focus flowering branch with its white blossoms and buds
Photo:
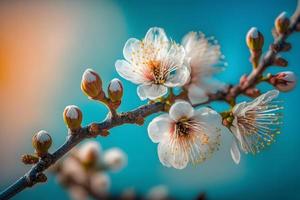
<instances>
[{"instance_id":1,"label":"whole in-focus flowering branch with its white blossoms and buds","mask_svg":"<svg viewBox=\"0 0 300 200\"><path fill-rule=\"evenodd\" d=\"M289 71L275 75L264 72L270 66L287 66L279 53L291 49L286 40L295 31L300 31L299 6L291 18L286 13L276 18L274 42L264 54L264 36L257 28L251 28L246 43L253 69L236 85L212 79L222 71L225 63L217 42L202 33L188 33L178 44L171 41L163 29L155 27L150 28L142 40L129 39L123 49L124 59L115 64L116 70L138 85L138 96L141 100L148 99L148 104L118 113L124 90L122 82L113 79L105 92L101 77L87 69L82 76L81 89L89 99L109 108L107 118L83 127L80 109L66 107L63 112L69 132L66 142L54 153L49 153L50 134L46 131L35 134L32 141L35 153L22 157L25 164L33 165L32 168L3 191L0 199L9 199L25 188L45 182L44 171L84 139L108 136L111 128L123 124L143 125L147 116L159 112L164 113L150 122L148 134L158 143L158 157L164 166L183 169L190 162L205 161L218 149L223 127L233 135L231 155L238 164L240 150L255 154L271 144L279 133L282 107L274 99L279 91L293 89L295 75ZM261 82L277 90L263 93L256 87ZM239 95L253 100L239 103ZM230 109L217 112L208 107L196 108L213 101L225 101Z\"/></svg>"}]
</instances>

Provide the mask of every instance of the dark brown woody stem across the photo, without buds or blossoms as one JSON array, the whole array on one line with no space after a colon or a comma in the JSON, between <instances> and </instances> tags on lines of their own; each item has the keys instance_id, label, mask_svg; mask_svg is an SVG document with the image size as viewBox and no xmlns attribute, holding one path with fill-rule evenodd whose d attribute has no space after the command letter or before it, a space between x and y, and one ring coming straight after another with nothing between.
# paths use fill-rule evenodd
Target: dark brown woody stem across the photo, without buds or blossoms
<instances>
[{"instance_id":1,"label":"dark brown woody stem across the photo, without buds or blossoms","mask_svg":"<svg viewBox=\"0 0 300 200\"><path fill-rule=\"evenodd\" d=\"M232 103L232 101L234 102L238 95L244 94L247 89L255 87L256 84L258 84L263 72L267 67L273 64L275 57L280 51L282 51L286 39L290 34L295 32L296 27L299 26L299 24L300 10L298 8L291 18L288 32L275 38L274 43L270 45L270 49L260 60L258 66L256 68L253 68L252 72L247 77L247 81L244 84L239 83L234 86L228 86L225 90L218 91L215 94L208 94L209 100L207 102L196 104L194 106L203 105L212 101L226 101L228 103ZM164 106L164 103L144 105L127 113L122 113L120 115L111 115L111 117L108 117L101 123L93 123L79 129L76 133L70 133L67 141L61 147L59 147L53 154L47 154L44 157L40 158L39 162L35 164L23 177L21 177L13 185L8 187L0 194L0 199L9 199L28 187L32 187L39 182L45 182L46 178L43 172L84 139L96 137L98 135L104 135L104 131L123 124L141 125L144 122L144 118L151 114L163 111Z\"/></svg>"}]
</instances>

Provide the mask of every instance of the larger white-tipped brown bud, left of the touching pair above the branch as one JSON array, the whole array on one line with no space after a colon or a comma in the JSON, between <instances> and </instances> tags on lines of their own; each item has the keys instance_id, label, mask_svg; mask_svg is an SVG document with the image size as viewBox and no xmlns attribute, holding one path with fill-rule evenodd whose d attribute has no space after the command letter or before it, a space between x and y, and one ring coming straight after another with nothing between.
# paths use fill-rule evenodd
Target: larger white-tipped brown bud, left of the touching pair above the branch
<instances>
[{"instance_id":1,"label":"larger white-tipped brown bud, left of the touching pair above the branch","mask_svg":"<svg viewBox=\"0 0 300 200\"><path fill-rule=\"evenodd\" d=\"M91 99L100 99L103 96L102 80L92 69L87 69L82 75L81 90Z\"/></svg>"}]
</instances>

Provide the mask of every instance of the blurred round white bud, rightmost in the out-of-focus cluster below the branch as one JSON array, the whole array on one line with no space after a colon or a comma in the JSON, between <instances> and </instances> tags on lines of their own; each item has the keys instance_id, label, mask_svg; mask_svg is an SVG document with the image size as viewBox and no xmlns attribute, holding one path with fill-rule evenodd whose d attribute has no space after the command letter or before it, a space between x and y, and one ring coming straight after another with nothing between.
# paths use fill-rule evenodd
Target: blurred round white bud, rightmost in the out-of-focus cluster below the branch
<instances>
[{"instance_id":1,"label":"blurred round white bud, rightmost in the out-of-focus cluster below the branch","mask_svg":"<svg viewBox=\"0 0 300 200\"><path fill-rule=\"evenodd\" d=\"M119 148L112 148L105 152L103 157L104 163L109 169L120 170L127 164L127 156Z\"/></svg>"}]
</instances>

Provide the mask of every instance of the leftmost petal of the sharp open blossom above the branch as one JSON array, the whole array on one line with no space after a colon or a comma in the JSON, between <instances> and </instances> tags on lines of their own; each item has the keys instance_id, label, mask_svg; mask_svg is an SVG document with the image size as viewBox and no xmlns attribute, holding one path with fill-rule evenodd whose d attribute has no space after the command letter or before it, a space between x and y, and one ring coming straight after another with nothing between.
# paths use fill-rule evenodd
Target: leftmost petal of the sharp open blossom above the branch
<instances>
[{"instance_id":1,"label":"leftmost petal of the sharp open blossom above the branch","mask_svg":"<svg viewBox=\"0 0 300 200\"><path fill-rule=\"evenodd\" d=\"M141 84L147 82L140 73L134 70L133 65L128 63L126 60L117 60L115 63L117 72L125 78L135 84Z\"/></svg>"}]
</instances>

